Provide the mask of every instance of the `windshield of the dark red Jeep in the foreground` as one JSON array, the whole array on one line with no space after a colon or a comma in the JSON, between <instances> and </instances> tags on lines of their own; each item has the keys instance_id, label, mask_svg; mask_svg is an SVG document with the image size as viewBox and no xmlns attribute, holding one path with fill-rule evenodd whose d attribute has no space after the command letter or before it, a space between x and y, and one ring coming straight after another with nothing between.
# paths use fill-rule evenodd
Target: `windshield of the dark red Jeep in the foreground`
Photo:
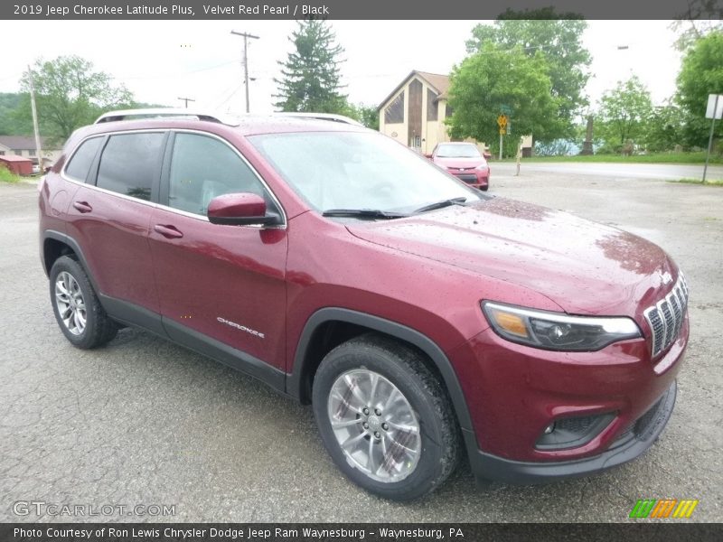
<instances>
[{"instance_id":1,"label":"windshield of the dark red Jeep in the foreground","mask_svg":"<svg viewBox=\"0 0 723 542\"><path fill-rule=\"evenodd\" d=\"M266 134L249 136L249 141L319 212L404 213L437 201L483 199L474 189L385 135ZM373 218L369 213L365 217Z\"/></svg>"}]
</instances>

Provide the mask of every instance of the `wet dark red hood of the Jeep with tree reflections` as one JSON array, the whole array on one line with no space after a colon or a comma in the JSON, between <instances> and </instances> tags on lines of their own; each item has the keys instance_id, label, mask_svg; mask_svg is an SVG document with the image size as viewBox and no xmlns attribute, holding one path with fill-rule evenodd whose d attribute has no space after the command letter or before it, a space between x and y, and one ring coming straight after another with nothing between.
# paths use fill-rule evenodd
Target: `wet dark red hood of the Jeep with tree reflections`
<instances>
[{"instance_id":1,"label":"wet dark red hood of the Jeep with tree reflections","mask_svg":"<svg viewBox=\"0 0 723 542\"><path fill-rule=\"evenodd\" d=\"M529 288L568 313L640 319L677 277L671 258L643 238L503 198L347 228L371 243Z\"/></svg>"}]
</instances>

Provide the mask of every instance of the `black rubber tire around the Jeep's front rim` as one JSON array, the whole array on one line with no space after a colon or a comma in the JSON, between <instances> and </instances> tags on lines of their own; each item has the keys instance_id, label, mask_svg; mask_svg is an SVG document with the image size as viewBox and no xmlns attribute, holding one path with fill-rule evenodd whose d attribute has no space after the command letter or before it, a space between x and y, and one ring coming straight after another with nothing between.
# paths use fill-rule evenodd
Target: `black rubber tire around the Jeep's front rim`
<instances>
[{"instance_id":1,"label":"black rubber tire around the Jeep's front rim","mask_svg":"<svg viewBox=\"0 0 723 542\"><path fill-rule=\"evenodd\" d=\"M342 445L334 434L330 413L335 406L330 407L333 403L329 402L329 397L337 378L355 369L362 369L360 373L362 375L374 373L386 378L401 392L407 405L411 406L417 417L419 440L414 441L420 445L417 463L411 472L399 481L379 481L372 478L370 474L364 472L363 466L353 464L353 460L350 460L349 456L343 452ZM371 373L363 371L371 371ZM339 397L339 395L332 395L332 397ZM339 404L350 404L351 399L352 397ZM354 400L359 399L356 397ZM315 375L313 405L316 425L319 427L324 446L332 456L333 462L349 479L364 490L380 497L390 500L418 499L437 489L454 472L459 463L462 453L461 438L446 390L439 378L427 368L421 354L401 342L370 333L344 342L329 352ZM362 412L357 412L356 407L344 411L351 411L352 416L363 416ZM371 417L364 418L369 422L367 427L371 424ZM379 424L382 419L383 416L375 417L374 424ZM370 432L369 428L363 429L360 425L354 425L353 420L351 423L353 431L360 434L357 436ZM352 429L348 431L351 433ZM395 434L393 429L390 431L389 435L382 435L382 437L385 439L388 436L397 438L399 433ZM372 438L374 438L372 435L363 437L366 439L366 443L370 443ZM359 444L360 446L367 446L367 444L363 444L363 440L359 442L362 443ZM380 441L374 444L380 444ZM367 457L371 455L372 444L370 443L369 446L370 453L367 454ZM387 453L381 455L382 459L386 460L390 453L393 455L393 449L394 444L391 448L388 446ZM382 448L379 448L378 453L381 453L381 450ZM386 461L382 463L387 464ZM403 462L399 464L401 463ZM371 464L374 465L374 463Z\"/></svg>"}]
</instances>

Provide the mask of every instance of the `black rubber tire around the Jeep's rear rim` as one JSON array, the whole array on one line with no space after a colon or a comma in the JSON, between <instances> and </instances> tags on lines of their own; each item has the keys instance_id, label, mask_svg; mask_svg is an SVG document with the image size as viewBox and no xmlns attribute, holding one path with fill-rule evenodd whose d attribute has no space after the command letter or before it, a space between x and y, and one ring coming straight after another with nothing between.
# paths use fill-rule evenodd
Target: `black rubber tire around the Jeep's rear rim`
<instances>
[{"instance_id":1,"label":"black rubber tire around the Jeep's rear rim","mask_svg":"<svg viewBox=\"0 0 723 542\"><path fill-rule=\"evenodd\" d=\"M74 285L77 285L75 292L80 294L80 300L84 304L85 325L82 329L77 326L77 322L70 319L70 324L63 321L61 316L61 307L59 306L58 296L56 294L56 283L61 274L63 277L70 276ZM76 346L83 350L98 348L111 341L118 331L116 322L113 322L106 314L105 309L100 304L98 296L90 285L88 275L80 264L71 257L61 256L52 265L50 274L51 286L51 304L52 312L55 314L55 320L61 327L61 332L65 337ZM72 284L72 281L70 283ZM74 286L73 285L73 286ZM62 303L62 302L61 302ZM73 306L79 306L73 301ZM81 311L82 313L82 311Z\"/></svg>"}]
</instances>

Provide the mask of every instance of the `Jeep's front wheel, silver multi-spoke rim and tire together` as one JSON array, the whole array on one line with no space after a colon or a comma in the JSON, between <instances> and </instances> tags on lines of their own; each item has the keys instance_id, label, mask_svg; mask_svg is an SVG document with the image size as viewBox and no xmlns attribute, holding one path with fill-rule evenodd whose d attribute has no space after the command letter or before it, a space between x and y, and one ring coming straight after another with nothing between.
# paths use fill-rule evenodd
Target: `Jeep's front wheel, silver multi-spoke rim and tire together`
<instances>
[{"instance_id":1,"label":"Jeep's front wheel, silver multi-spoke rim and tire together","mask_svg":"<svg viewBox=\"0 0 723 542\"><path fill-rule=\"evenodd\" d=\"M445 389L421 355L397 341L369 334L329 352L313 401L334 463L381 497L421 497L458 463L459 431Z\"/></svg>"}]
</instances>

